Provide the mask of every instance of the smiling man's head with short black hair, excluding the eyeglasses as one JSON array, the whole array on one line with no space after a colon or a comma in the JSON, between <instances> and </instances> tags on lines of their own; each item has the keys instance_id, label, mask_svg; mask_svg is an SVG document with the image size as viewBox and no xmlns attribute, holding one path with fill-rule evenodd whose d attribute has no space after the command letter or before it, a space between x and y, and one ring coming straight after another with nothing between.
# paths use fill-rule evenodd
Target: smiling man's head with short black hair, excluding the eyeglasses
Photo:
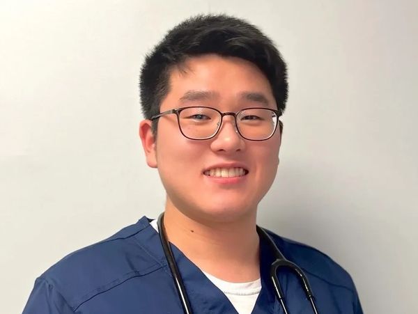
<instances>
[{"instance_id":1,"label":"smiling man's head with short black hair, excluding the eyeglasses","mask_svg":"<svg viewBox=\"0 0 418 314\"><path fill-rule=\"evenodd\" d=\"M153 122L150 118L192 106L283 112L286 64L271 40L242 19L187 19L146 57L140 89L146 118L140 136L148 165L158 168L167 191L167 206L212 221L254 216L279 164L279 128L266 141L247 141L238 134L233 117L225 116L215 137L196 141L181 134L175 114ZM228 171L231 178L217 178Z\"/></svg>"}]
</instances>

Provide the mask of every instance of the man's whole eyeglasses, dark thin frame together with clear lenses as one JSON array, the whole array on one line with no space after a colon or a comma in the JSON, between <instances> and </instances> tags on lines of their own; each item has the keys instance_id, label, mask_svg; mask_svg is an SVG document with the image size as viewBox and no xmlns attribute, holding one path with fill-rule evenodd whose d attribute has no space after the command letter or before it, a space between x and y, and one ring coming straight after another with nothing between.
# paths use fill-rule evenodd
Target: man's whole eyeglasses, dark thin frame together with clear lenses
<instances>
[{"instance_id":1,"label":"man's whole eyeglasses, dark thin frame together with clear lenses","mask_svg":"<svg viewBox=\"0 0 418 314\"><path fill-rule=\"evenodd\" d=\"M210 107L183 107L164 111L150 120L157 120L167 114L176 113L178 127L187 139L212 139L221 129L224 116L233 116L235 128L244 139L265 141L276 132L281 111L268 108L246 108L233 112L221 112Z\"/></svg>"}]
</instances>

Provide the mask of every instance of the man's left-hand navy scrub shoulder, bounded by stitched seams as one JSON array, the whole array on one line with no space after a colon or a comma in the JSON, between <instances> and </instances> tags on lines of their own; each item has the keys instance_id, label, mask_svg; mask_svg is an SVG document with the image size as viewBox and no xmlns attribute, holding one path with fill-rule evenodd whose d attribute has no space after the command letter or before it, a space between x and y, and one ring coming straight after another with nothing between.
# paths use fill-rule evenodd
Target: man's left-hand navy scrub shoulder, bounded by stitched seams
<instances>
[{"instance_id":1,"label":"man's left-hand navy scrub shoulder, bounded by stitched seams","mask_svg":"<svg viewBox=\"0 0 418 314\"><path fill-rule=\"evenodd\" d=\"M65 256L38 281L53 287L74 310L94 295L129 278L154 272L162 265L138 241L146 228L152 227L143 217L106 240Z\"/></svg>"}]
</instances>

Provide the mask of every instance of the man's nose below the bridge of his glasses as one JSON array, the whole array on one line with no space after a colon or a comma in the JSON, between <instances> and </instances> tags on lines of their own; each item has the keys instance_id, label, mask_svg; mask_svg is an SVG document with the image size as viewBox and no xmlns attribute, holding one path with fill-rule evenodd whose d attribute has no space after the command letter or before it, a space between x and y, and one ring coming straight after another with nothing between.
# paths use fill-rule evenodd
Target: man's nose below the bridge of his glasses
<instances>
[{"instance_id":1,"label":"man's nose below the bridge of his glasses","mask_svg":"<svg viewBox=\"0 0 418 314\"><path fill-rule=\"evenodd\" d=\"M245 149L245 139L238 133L233 116L224 116L221 129L210 143L214 152L237 152Z\"/></svg>"}]
</instances>

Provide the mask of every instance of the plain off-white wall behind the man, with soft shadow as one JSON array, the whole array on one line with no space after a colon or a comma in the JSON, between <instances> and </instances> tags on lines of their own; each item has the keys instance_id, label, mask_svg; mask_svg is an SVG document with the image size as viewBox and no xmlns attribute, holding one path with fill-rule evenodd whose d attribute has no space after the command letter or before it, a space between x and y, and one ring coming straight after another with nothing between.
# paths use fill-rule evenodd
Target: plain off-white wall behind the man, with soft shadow
<instances>
[{"instance_id":1,"label":"plain off-white wall behind the man, with soft shadow","mask_svg":"<svg viewBox=\"0 0 418 314\"><path fill-rule=\"evenodd\" d=\"M137 136L139 70L208 12L249 19L288 62L259 224L332 256L365 313L418 313L417 3L1 0L1 313L21 313L67 253L163 210Z\"/></svg>"}]
</instances>

